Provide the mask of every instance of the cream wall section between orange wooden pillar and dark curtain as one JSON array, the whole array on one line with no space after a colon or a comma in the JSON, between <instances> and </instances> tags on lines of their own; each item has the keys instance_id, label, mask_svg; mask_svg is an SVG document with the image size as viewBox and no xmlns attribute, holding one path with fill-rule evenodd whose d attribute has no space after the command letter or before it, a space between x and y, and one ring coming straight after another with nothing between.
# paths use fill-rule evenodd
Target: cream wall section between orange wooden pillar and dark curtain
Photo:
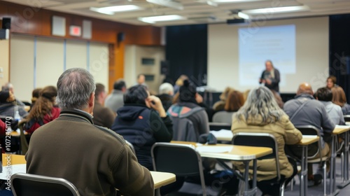
<instances>
[{"instance_id":1,"label":"cream wall section between orange wooden pillar and dark curtain","mask_svg":"<svg viewBox=\"0 0 350 196\"><path fill-rule=\"evenodd\" d=\"M155 64L143 65L142 58L153 58ZM165 50L159 46L125 45L124 79L127 87L136 84L137 75L154 75L153 81L146 81L148 88L158 94L164 77L160 74L160 62L165 59Z\"/></svg>"}]
</instances>

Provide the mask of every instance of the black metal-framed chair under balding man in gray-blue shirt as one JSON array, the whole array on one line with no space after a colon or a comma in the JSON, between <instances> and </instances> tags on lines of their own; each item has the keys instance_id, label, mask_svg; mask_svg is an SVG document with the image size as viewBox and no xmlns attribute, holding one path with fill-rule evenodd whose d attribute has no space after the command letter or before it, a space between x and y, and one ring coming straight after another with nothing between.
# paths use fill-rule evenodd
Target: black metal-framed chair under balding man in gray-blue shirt
<instances>
[{"instance_id":1,"label":"black metal-framed chair under balding man in gray-blue shirt","mask_svg":"<svg viewBox=\"0 0 350 196\"><path fill-rule=\"evenodd\" d=\"M317 152L311 152L311 154L314 155L309 155L310 153L308 153L308 159L307 162L308 163L312 163L312 164L319 164L321 165L322 169L323 169L323 176L326 176L327 173L327 168L325 165L325 161L329 159L329 157L327 155L322 155L322 146L321 146L321 134L318 130L317 127L312 126L312 125L295 125L295 128L297 128L297 130L300 130L300 132L302 132L303 135L313 135L313 136L318 136L318 142L317 142ZM311 144L312 145L312 144ZM331 150L330 150L331 151ZM316 155L319 153L319 159L316 158ZM327 195L326 193L326 182L325 182L325 177L323 177L323 194Z\"/></svg>"}]
</instances>

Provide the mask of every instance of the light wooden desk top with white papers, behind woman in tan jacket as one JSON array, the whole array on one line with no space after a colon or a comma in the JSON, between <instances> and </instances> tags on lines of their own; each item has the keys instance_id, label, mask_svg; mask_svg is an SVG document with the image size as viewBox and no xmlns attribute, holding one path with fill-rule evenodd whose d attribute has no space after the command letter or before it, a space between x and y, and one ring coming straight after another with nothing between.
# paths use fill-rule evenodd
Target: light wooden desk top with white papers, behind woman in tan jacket
<instances>
[{"instance_id":1,"label":"light wooden desk top with white papers, behind woman in tan jacket","mask_svg":"<svg viewBox=\"0 0 350 196\"><path fill-rule=\"evenodd\" d=\"M230 152L226 153L217 153L217 152L207 152L200 151L200 155L203 158L218 158L225 160L253 160L255 158L260 158L265 155L269 155L272 153L272 148L265 147L255 147L255 146L237 146L230 144L215 144L215 145L206 145L206 144L196 144L195 142L187 142L187 141L171 141L174 144L190 144L195 146L196 148L199 146L207 146L213 150L216 147L220 148L222 146L232 147Z\"/></svg>"}]
</instances>

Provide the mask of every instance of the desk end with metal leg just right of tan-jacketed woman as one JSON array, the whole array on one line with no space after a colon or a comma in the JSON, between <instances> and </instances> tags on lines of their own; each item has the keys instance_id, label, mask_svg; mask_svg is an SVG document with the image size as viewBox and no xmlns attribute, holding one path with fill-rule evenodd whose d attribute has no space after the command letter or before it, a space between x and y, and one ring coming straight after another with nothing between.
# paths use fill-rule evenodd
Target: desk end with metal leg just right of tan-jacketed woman
<instances>
[{"instance_id":1,"label":"desk end with metal leg just right of tan-jacketed woman","mask_svg":"<svg viewBox=\"0 0 350 196\"><path fill-rule=\"evenodd\" d=\"M309 144L317 142L319 139L320 138L317 136L303 135L302 140L299 143L295 144L298 146L302 146L302 172L300 174L300 196L307 195L307 146L309 146Z\"/></svg>"}]
</instances>

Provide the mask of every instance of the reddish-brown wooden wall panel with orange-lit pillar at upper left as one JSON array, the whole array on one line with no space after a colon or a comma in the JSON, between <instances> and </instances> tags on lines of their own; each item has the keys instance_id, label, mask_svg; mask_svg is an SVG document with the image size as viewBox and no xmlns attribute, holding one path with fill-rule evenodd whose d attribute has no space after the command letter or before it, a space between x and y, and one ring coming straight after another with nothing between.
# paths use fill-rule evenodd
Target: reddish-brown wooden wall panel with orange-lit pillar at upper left
<instances>
[{"instance_id":1,"label":"reddish-brown wooden wall panel with orange-lit pillar at upper left","mask_svg":"<svg viewBox=\"0 0 350 196\"><path fill-rule=\"evenodd\" d=\"M58 15L66 18L66 36L51 35L51 18L52 15ZM110 43L113 53L110 54L109 60L109 83L118 78L123 78L124 74L124 45L160 45L160 28L152 26L135 26L95 18L87 18L80 15L68 13L58 13L51 10L22 6L15 3L0 1L0 16L11 17L12 33L31 34L34 36L48 36L57 38L67 38L75 40L86 40L83 38L69 36L69 26L81 26L83 20L92 21L92 38L90 41ZM119 32L125 34L125 40L117 43Z\"/></svg>"}]
</instances>

